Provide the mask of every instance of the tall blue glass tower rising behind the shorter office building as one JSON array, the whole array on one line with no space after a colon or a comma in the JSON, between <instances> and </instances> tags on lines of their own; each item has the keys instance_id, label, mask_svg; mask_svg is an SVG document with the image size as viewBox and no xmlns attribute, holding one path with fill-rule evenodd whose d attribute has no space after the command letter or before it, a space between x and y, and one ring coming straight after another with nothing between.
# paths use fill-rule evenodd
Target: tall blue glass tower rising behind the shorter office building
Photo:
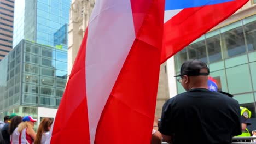
<instances>
[{"instance_id":1,"label":"tall blue glass tower rising behind the shorter office building","mask_svg":"<svg viewBox=\"0 0 256 144\"><path fill-rule=\"evenodd\" d=\"M69 22L70 4L71 0L15 1L13 46L22 39L54 46L54 39L61 37L57 32L64 33L67 38L67 29L63 27ZM62 49L67 50L67 39Z\"/></svg>"}]
</instances>

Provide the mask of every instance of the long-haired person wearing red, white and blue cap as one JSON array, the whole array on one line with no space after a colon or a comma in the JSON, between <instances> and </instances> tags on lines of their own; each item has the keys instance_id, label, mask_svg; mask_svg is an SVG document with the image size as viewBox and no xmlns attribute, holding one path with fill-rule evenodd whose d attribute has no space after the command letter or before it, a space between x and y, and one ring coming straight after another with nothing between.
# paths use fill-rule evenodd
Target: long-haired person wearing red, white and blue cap
<instances>
[{"instance_id":1,"label":"long-haired person wearing red, white and blue cap","mask_svg":"<svg viewBox=\"0 0 256 144\"><path fill-rule=\"evenodd\" d=\"M31 116L25 116L22 118L22 122L13 131L11 135L11 143L29 143L32 144L36 139L36 132L34 131L34 123L37 119Z\"/></svg>"}]
</instances>

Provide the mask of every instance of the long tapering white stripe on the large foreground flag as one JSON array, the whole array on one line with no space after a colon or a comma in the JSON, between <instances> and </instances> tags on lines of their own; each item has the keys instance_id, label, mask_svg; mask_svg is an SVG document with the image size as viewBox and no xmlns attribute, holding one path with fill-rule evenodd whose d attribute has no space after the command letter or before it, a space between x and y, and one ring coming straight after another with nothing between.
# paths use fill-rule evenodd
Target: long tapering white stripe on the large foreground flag
<instances>
[{"instance_id":1,"label":"long tapering white stripe on the large foreground flag","mask_svg":"<svg viewBox=\"0 0 256 144\"><path fill-rule=\"evenodd\" d=\"M102 110L134 40L130 0L97 0L88 26L85 61L91 143L94 143Z\"/></svg>"}]
</instances>

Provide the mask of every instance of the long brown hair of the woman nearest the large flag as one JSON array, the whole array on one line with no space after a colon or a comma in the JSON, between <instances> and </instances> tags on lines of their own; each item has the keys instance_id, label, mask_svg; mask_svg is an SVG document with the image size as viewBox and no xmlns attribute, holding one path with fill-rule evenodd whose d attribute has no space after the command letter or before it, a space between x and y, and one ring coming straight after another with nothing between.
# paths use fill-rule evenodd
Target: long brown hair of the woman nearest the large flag
<instances>
[{"instance_id":1,"label":"long brown hair of the woman nearest the large flag","mask_svg":"<svg viewBox=\"0 0 256 144\"><path fill-rule=\"evenodd\" d=\"M51 118L43 118L43 120L40 122L38 130L37 130L37 135L36 139L34 140L34 144L40 144L42 140L42 135L45 131L49 131L48 127L53 124L53 119Z\"/></svg>"}]
</instances>

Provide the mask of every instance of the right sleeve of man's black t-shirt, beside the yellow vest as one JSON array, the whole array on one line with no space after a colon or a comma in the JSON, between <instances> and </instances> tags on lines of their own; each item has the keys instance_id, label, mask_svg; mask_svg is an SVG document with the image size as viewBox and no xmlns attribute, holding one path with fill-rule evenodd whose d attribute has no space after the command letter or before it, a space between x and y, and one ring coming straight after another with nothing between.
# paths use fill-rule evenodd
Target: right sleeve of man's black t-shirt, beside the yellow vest
<instances>
[{"instance_id":1,"label":"right sleeve of man's black t-shirt, beside the yellow vest","mask_svg":"<svg viewBox=\"0 0 256 144\"><path fill-rule=\"evenodd\" d=\"M240 135L242 134L242 125L241 125L241 110L238 101L235 101L235 116L234 116L234 121L235 121L235 128L234 131L232 132L232 135Z\"/></svg>"}]
</instances>

